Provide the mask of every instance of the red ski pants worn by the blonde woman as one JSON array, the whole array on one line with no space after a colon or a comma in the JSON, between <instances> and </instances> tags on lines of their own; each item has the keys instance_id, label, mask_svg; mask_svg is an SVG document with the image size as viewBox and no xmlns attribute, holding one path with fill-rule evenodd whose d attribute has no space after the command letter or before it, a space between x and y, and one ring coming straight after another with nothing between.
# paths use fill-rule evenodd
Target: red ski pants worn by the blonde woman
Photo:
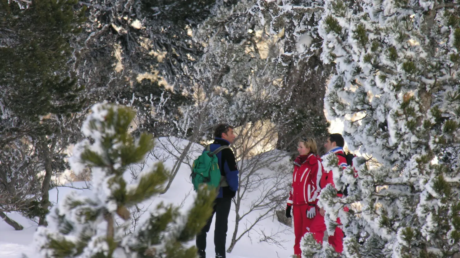
<instances>
[{"instance_id":1,"label":"red ski pants worn by the blonde woman","mask_svg":"<svg viewBox=\"0 0 460 258\"><path fill-rule=\"evenodd\" d=\"M300 241L304 237L305 233L309 232L308 229L311 226L313 219L307 218L307 208L308 204L303 205L293 205L292 215L294 217L294 235L295 235L295 244L294 244L294 254L298 257L301 257L302 251L300 250ZM324 223L323 223L324 224Z\"/></svg>"}]
</instances>

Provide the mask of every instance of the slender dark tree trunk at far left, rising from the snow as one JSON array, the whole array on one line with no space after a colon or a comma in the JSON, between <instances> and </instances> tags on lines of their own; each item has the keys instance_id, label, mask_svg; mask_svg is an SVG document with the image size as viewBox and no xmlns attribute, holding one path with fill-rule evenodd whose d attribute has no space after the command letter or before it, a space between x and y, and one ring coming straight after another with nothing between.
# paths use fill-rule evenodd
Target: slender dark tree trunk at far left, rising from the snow
<instances>
[{"instance_id":1,"label":"slender dark tree trunk at far left, rising from the snow","mask_svg":"<svg viewBox=\"0 0 460 258\"><path fill-rule=\"evenodd\" d=\"M43 210L48 210L48 208L50 207L49 191L53 170L51 151L49 149L49 146L46 144L46 139L43 139L41 143L41 156L42 160L45 163L45 177L43 178L43 184L41 185L40 208L42 208ZM38 224L43 226L48 225L48 222L46 222L46 214L40 215Z\"/></svg>"}]
</instances>

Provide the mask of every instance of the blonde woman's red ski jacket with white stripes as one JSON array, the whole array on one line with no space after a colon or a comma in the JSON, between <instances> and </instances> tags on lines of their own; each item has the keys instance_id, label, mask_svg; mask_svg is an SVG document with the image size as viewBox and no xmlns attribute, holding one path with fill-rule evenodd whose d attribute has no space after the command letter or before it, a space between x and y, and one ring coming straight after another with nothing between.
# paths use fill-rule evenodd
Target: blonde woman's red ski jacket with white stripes
<instances>
[{"instance_id":1,"label":"blonde woman's red ski jacket with white stripes","mask_svg":"<svg viewBox=\"0 0 460 258\"><path fill-rule=\"evenodd\" d=\"M294 163L288 205L316 204L323 172L321 158L315 154L309 154L302 164Z\"/></svg>"}]
</instances>

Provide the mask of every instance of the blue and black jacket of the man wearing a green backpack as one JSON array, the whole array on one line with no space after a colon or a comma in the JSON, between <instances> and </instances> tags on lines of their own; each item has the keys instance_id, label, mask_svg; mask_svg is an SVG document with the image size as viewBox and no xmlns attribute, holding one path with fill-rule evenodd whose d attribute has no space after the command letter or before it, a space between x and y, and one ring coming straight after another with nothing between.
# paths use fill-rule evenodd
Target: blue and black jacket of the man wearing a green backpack
<instances>
[{"instance_id":1,"label":"blue and black jacket of the man wearing a green backpack","mask_svg":"<svg viewBox=\"0 0 460 258\"><path fill-rule=\"evenodd\" d=\"M230 142L222 138L215 138L210 146L210 151L215 151L220 146L229 146ZM204 151L203 151L204 152ZM236 166L235 155L231 149L224 149L217 153L219 160L220 174L227 178L229 186L220 187L217 198L233 198L238 190L238 167Z\"/></svg>"}]
</instances>

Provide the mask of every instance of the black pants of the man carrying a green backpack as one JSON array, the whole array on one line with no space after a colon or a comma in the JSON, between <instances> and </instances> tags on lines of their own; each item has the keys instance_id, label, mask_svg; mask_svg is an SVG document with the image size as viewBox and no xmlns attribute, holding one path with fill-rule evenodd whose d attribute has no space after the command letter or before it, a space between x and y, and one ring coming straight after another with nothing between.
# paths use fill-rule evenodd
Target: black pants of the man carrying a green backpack
<instances>
[{"instance_id":1,"label":"black pants of the man carrying a green backpack","mask_svg":"<svg viewBox=\"0 0 460 258\"><path fill-rule=\"evenodd\" d=\"M225 240L227 239L227 223L230 213L231 198L217 198L214 202L213 214L207 220L206 226L196 236L196 248L200 258L206 257L206 235L211 228L214 213L216 213L216 226L214 229L214 246L216 258L225 258Z\"/></svg>"}]
</instances>

